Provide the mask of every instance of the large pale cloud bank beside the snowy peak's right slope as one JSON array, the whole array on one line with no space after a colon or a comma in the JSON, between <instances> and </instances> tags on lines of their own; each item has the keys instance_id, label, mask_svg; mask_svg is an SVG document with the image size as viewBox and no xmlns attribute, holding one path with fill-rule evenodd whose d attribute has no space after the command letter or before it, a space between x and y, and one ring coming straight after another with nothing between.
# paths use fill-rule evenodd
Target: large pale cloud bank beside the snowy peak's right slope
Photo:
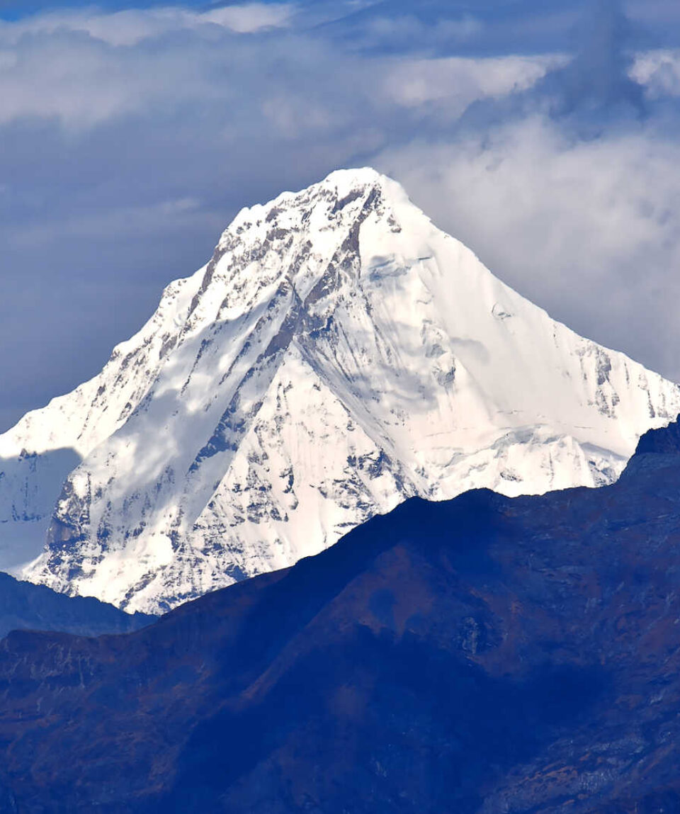
<instances>
[{"instance_id":1,"label":"large pale cloud bank beside the snowy peak's right slope","mask_svg":"<svg viewBox=\"0 0 680 814\"><path fill-rule=\"evenodd\" d=\"M680 142L651 125L582 141L533 116L379 164L518 291L680 380Z\"/></svg>"}]
</instances>

